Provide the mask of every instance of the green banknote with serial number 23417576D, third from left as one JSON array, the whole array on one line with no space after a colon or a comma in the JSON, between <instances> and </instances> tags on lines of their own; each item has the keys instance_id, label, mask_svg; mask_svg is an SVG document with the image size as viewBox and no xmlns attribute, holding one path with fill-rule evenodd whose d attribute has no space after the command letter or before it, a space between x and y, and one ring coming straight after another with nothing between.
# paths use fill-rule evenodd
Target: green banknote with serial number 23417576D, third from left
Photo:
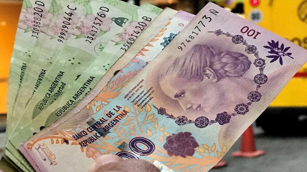
<instances>
[{"instance_id":1,"label":"green banknote with serial number 23417576D, third from left","mask_svg":"<svg viewBox=\"0 0 307 172\"><path fill-rule=\"evenodd\" d=\"M88 14L76 24L62 52L25 108L14 132L56 101L65 90L72 88L95 60L103 59L105 69L108 69L110 63L100 56L99 44L115 38L124 24L133 19L137 7L117 0L91 1L89 4Z\"/></svg>"}]
</instances>

